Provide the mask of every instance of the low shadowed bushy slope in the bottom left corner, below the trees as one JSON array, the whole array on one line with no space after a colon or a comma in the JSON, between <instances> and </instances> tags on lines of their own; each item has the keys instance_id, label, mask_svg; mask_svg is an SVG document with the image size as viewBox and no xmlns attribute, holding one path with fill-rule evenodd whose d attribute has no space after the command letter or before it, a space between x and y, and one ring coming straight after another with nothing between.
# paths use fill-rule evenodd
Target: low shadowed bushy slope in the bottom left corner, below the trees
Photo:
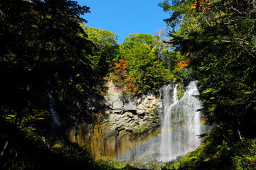
<instances>
[{"instance_id":1,"label":"low shadowed bushy slope in the bottom left corner, below the trees","mask_svg":"<svg viewBox=\"0 0 256 170\"><path fill-rule=\"evenodd\" d=\"M32 126L0 120L1 169L97 169L90 154Z\"/></svg>"}]
</instances>

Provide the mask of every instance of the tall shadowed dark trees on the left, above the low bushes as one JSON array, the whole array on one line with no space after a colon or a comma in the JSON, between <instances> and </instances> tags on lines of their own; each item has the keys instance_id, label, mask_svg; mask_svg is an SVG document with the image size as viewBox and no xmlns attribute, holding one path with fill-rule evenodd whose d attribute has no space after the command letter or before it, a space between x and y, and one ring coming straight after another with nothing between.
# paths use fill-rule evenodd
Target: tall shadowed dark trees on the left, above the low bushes
<instances>
[{"instance_id":1,"label":"tall shadowed dark trees on the left, above the low bushes","mask_svg":"<svg viewBox=\"0 0 256 170\"><path fill-rule=\"evenodd\" d=\"M17 123L33 109L48 110L50 91L63 114L79 113L82 95L101 81L90 55L94 45L80 26L85 22L80 15L89 8L76 1L13 0L1 1L0 11L6 42L0 58L1 112L12 111Z\"/></svg>"}]
</instances>

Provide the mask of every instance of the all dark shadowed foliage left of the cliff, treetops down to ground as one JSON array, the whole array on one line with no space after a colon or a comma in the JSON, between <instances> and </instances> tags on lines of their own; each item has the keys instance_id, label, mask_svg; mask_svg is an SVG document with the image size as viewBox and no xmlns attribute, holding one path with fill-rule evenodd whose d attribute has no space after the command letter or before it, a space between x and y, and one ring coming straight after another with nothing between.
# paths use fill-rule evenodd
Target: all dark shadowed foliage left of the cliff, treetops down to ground
<instances>
[{"instance_id":1,"label":"all dark shadowed foliage left of the cliff, treetops down to ground","mask_svg":"<svg viewBox=\"0 0 256 170\"><path fill-rule=\"evenodd\" d=\"M76 1L0 2L0 169L94 169L90 154L62 140L70 120L91 122L101 107L106 60L80 26L88 12ZM48 93L61 119L55 137Z\"/></svg>"}]
</instances>

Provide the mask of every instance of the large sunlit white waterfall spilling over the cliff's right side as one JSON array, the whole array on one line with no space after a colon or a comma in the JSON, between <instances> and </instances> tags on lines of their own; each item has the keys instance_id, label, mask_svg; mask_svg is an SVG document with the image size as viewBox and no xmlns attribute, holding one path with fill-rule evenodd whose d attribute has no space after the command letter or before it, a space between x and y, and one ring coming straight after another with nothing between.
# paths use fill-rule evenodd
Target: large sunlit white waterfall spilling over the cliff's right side
<instances>
[{"instance_id":1,"label":"large sunlit white waterfall spilling over the cliff's right side","mask_svg":"<svg viewBox=\"0 0 256 170\"><path fill-rule=\"evenodd\" d=\"M186 87L183 97L178 101L177 84L161 88L163 115L161 120L161 142L159 161L167 162L191 152L201 143L201 101L196 81Z\"/></svg>"}]
</instances>

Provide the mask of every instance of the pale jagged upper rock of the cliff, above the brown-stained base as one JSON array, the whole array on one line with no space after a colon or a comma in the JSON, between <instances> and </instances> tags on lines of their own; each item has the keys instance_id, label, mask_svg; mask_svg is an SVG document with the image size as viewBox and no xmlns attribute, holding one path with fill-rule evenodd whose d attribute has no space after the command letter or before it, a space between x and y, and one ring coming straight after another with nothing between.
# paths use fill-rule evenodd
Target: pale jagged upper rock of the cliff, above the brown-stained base
<instances>
[{"instance_id":1,"label":"pale jagged upper rock of the cliff, above the brown-stained base","mask_svg":"<svg viewBox=\"0 0 256 170\"><path fill-rule=\"evenodd\" d=\"M153 94L134 99L124 98L122 91L116 91L111 81L107 86L109 91L105 97L108 108L106 114L112 130L138 133L159 125L159 98Z\"/></svg>"}]
</instances>

